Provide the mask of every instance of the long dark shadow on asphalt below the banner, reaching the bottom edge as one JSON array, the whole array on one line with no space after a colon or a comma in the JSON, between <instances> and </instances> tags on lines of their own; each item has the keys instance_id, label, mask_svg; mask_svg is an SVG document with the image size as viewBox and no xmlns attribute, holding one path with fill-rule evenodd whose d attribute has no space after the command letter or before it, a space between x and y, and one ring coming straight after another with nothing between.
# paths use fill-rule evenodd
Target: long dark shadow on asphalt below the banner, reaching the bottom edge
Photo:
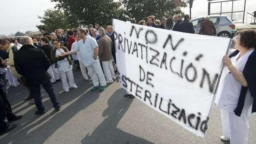
<instances>
[{"instance_id":1,"label":"long dark shadow on asphalt below the banner, reaching the bottom edge","mask_svg":"<svg viewBox=\"0 0 256 144\"><path fill-rule=\"evenodd\" d=\"M118 129L118 123L128 111L133 99L122 97L126 92L120 88L108 100L108 108L102 113L105 120L81 141L82 144L153 144L143 138Z\"/></svg>"}]
</instances>

